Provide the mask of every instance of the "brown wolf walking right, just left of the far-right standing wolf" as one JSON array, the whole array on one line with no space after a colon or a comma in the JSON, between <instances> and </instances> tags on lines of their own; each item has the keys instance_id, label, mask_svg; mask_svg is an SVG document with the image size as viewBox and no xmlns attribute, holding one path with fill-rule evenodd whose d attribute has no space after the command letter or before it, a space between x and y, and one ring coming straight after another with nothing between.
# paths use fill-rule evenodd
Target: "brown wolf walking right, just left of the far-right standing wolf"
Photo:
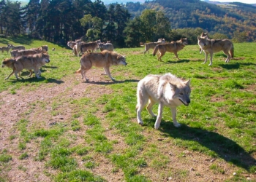
<instances>
[{"instance_id":1,"label":"brown wolf walking right, just left of the far-right standing wolf","mask_svg":"<svg viewBox=\"0 0 256 182\"><path fill-rule=\"evenodd\" d=\"M162 61L162 56L165 55L165 52L173 52L176 57L178 58L177 52L182 50L187 45L187 38L180 39L178 41L172 41L170 43L165 44L158 44L154 47L153 55L157 53L157 60ZM178 58L179 60L179 58Z\"/></svg>"}]
</instances>

